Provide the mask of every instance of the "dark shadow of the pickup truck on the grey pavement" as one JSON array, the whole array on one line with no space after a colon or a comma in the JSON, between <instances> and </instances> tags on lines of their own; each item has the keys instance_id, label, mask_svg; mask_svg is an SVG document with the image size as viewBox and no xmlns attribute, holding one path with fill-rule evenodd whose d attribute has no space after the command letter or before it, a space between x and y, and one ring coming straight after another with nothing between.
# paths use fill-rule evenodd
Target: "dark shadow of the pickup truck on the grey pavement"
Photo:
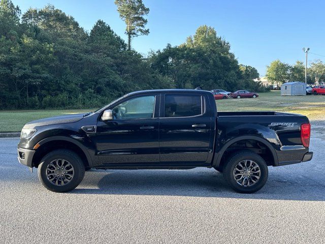
<instances>
[{"instance_id":1,"label":"dark shadow of the pickup truck on the grey pavement","mask_svg":"<svg viewBox=\"0 0 325 244\"><path fill-rule=\"evenodd\" d=\"M234 192L214 169L107 170L86 172L71 194L155 195L325 201L325 185L317 177L305 178L270 170L266 186L254 194ZM277 171L277 172L274 172ZM321 177L321 176L319 176ZM97 182L97 184L96 184Z\"/></svg>"}]
</instances>

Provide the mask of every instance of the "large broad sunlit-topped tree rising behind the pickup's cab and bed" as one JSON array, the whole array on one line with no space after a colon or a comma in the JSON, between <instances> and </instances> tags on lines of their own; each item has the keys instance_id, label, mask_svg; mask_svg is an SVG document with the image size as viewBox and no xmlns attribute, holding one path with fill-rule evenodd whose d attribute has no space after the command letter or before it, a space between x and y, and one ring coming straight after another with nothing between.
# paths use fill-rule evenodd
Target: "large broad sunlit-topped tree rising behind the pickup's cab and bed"
<instances>
[{"instance_id":1,"label":"large broad sunlit-topped tree rising behind the pickup's cab and bed","mask_svg":"<svg viewBox=\"0 0 325 244\"><path fill-rule=\"evenodd\" d=\"M217 36L214 28L200 26L184 44L152 52L148 58L151 68L169 77L176 88L202 86L211 89L255 89L261 84L253 81L257 70L247 66L240 70L230 44Z\"/></svg>"}]
</instances>

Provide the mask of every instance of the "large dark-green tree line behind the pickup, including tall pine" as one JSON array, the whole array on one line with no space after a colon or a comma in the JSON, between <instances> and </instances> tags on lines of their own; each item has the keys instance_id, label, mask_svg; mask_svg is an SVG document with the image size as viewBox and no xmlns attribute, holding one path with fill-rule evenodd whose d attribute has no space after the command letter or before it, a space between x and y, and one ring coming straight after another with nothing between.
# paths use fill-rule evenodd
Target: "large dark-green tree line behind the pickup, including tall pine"
<instances>
[{"instance_id":1,"label":"large dark-green tree line behind the pickup, including tall pine","mask_svg":"<svg viewBox=\"0 0 325 244\"><path fill-rule=\"evenodd\" d=\"M1 0L0 108L94 108L142 89L265 90L253 81L257 70L238 64L229 42L206 25L179 46L142 56L131 40L149 33L140 18L149 9L138 6L129 14L129 2L142 4L115 1L122 19L134 19L125 21L131 23L125 43L103 20L87 32L52 5L22 14L10 0Z\"/></svg>"}]
</instances>

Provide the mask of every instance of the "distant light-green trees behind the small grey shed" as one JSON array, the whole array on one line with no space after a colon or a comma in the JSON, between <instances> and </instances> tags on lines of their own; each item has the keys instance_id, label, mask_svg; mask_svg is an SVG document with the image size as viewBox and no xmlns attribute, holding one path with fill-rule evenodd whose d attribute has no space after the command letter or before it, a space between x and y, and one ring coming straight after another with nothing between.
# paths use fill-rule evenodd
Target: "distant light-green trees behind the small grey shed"
<instances>
[{"instance_id":1,"label":"distant light-green trees behind the small grey shed","mask_svg":"<svg viewBox=\"0 0 325 244\"><path fill-rule=\"evenodd\" d=\"M305 82L305 64L297 61L294 65L281 62L279 59L267 66L266 77L277 85L290 81ZM307 84L319 85L325 81L325 64L316 59L307 67Z\"/></svg>"}]
</instances>

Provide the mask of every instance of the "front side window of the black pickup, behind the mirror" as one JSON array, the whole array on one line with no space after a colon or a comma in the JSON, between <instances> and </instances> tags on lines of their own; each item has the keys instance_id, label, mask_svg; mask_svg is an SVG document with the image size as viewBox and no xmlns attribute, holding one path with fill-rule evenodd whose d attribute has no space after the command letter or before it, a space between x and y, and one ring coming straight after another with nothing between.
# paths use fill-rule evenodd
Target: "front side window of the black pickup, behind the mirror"
<instances>
[{"instance_id":1,"label":"front side window of the black pickup, behind the mirror","mask_svg":"<svg viewBox=\"0 0 325 244\"><path fill-rule=\"evenodd\" d=\"M112 109L115 119L153 118L155 96L129 99Z\"/></svg>"}]
</instances>

